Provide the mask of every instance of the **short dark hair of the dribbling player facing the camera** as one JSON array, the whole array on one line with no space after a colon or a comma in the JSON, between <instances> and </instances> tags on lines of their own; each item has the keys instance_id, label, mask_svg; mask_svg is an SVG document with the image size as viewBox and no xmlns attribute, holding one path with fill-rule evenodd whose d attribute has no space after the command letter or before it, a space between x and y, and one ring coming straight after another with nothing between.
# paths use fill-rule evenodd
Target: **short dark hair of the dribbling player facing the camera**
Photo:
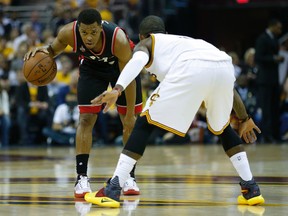
<instances>
[{"instance_id":1,"label":"short dark hair of the dribbling player facing the camera","mask_svg":"<svg viewBox=\"0 0 288 216\"><path fill-rule=\"evenodd\" d=\"M101 25L102 17L98 10L85 9L79 13L77 21L78 24L83 23L85 25L90 25L97 22Z\"/></svg>"}]
</instances>

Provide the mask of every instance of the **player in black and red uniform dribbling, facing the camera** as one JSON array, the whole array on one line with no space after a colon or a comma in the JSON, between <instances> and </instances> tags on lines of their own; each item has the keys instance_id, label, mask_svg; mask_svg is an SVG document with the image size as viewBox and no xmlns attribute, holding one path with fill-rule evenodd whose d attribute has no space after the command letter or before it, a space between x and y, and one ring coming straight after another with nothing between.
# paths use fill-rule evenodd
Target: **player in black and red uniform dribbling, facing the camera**
<instances>
[{"instance_id":1,"label":"player in black and red uniform dribbling, facing the camera","mask_svg":"<svg viewBox=\"0 0 288 216\"><path fill-rule=\"evenodd\" d=\"M92 147L92 130L102 108L101 105L91 105L90 101L105 91L109 83L112 86L115 85L120 72L132 57L133 43L117 25L103 21L97 10L85 9L80 12L76 21L61 28L49 46L29 51L24 56L24 60L39 51L56 57L68 45L81 59L77 87L80 120L76 133L77 181L74 196L83 198L87 192L91 192L87 164ZM134 127L136 115L142 111L139 77L131 82L116 104L123 125L123 143L125 144ZM125 183L124 195L140 193L134 170L135 168L131 171L131 178Z\"/></svg>"}]
</instances>

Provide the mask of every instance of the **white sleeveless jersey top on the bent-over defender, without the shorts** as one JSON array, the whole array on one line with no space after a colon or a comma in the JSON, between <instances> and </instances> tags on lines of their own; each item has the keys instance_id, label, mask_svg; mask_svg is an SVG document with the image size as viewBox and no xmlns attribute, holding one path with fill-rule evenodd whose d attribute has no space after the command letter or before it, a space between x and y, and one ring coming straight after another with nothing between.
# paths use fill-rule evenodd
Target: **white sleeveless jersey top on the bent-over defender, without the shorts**
<instances>
[{"instance_id":1,"label":"white sleeveless jersey top on the bent-over defender, without the shorts","mask_svg":"<svg viewBox=\"0 0 288 216\"><path fill-rule=\"evenodd\" d=\"M226 61L231 57L212 44L187 36L151 34L152 53L145 67L162 81L172 65L186 60ZM157 56L154 58L154 56ZM193 71L191 71L193 72Z\"/></svg>"}]
</instances>

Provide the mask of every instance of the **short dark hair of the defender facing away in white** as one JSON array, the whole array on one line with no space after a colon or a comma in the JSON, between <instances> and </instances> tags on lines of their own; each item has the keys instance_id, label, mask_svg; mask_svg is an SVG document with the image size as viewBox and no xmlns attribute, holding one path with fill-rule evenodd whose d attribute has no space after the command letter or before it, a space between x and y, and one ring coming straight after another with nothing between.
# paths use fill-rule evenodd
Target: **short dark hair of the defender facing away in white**
<instances>
[{"instance_id":1,"label":"short dark hair of the defender facing away in white","mask_svg":"<svg viewBox=\"0 0 288 216\"><path fill-rule=\"evenodd\" d=\"M145 37L151 33L166 33L164 21L158 16L147 16L139 25L139 33Z\"/></svg>"}]
</instances>

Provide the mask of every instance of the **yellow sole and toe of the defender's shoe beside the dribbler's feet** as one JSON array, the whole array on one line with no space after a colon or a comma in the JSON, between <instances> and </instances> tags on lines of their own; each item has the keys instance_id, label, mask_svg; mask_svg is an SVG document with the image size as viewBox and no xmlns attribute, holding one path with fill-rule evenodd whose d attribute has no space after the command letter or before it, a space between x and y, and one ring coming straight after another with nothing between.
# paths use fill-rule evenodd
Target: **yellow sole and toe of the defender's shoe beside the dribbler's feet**
<instances>
[{"instance_id":1,"label":"yellow sole and toe of the defender's shoe beside the dribbler's feet","mask_svg":"<svg viewBox=\"0 0 288 216\"><path fill-rule=\"evenodd\" d=\"M87 202L93 203L98 206L102 207L110 207L110 208L119 208L120 202L117 202L116 200L113 200L109 197L96 197L98 191L93 193L86 193L84 196L84 199Z\"/></svg>"}]
</instances>

